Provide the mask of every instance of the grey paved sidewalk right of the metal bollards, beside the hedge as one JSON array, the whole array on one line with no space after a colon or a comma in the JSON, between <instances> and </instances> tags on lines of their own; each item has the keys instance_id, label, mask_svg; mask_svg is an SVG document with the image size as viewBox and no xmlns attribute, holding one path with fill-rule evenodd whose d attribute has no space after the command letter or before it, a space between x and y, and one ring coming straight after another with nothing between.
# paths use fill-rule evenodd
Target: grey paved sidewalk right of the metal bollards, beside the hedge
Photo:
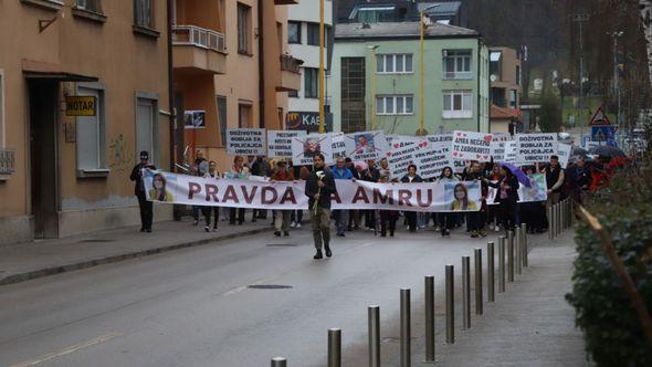
<instances>
[{"instance_id":1,"label":"grey paved sidewalk right of the metal bollards, beside the hedge","mask_svg":"<svg viewBox=\"0 0 652 367\"><path fill-rule=\"evenodd\" d=\"M529 268L506 283L505 293L496 293L496 302L486 303L484 294L484 315L474 314L472 302L471 329L460 331L462 314L456 313L455 344L444 344L445 331L438 327L437 365L589 366L582 334L575 328L575 310L564 298L571 290L577 255L572 235L568 230L553 243L539 241L530 250ZM422 347L413 350L417 366L428 366L421 364Z\"/></svg>"}]
</instances>

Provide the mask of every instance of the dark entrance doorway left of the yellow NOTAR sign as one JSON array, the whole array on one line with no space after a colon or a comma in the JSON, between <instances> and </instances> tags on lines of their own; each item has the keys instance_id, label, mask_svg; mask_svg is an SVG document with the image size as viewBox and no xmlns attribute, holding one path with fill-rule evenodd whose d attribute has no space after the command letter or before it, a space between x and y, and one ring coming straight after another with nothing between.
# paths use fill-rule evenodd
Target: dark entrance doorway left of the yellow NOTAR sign
<instances>
[{"instance_id":1,"label":"dark entrance doorway left of the yellow NOTAR sign","mask_svg":"<svg viewBox=\"0 0 652 367\"><path fill-rule=\"evenodd\" d=\"M59 238L59 82L29 81L31 201L35 239Z\"/></svg>"}]
</instances>

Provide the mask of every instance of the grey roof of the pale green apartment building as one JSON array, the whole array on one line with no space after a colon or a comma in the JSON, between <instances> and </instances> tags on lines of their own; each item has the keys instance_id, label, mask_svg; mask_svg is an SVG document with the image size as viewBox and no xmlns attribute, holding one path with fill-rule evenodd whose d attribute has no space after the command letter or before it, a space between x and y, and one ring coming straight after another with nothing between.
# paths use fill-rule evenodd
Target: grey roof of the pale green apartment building
<instances>
[{"instance_id":1,"label":"grey roof of the pale green apartment building","mask_svg":"<svg viewBox=\"0 0 652 367\"><path fill-rule=\"evenodd\" d=\"M387 23L340 23L335 28L336 40L364 39L411 39L419 38L421 30L419 22L387 22ZM479 38L480 33L466 28L431 23L425 28L425 38Z\"/></svg>"}]
</instances>

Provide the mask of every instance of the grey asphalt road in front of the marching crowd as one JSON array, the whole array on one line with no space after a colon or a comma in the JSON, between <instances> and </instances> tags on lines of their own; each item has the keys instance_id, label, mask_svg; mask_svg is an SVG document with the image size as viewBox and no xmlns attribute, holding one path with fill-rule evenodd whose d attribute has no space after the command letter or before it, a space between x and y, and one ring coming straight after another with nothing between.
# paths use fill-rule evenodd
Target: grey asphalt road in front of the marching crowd
<instances>
[{"instance_id":1,"label":"grey asphalt road in front of the marching crowd","mask_svg":"<svg viewBox=\"0 0 652 367\"><path fill-rule=\"evenodd\" d=\"M395 360L399 289L422 323L423 275L435 275L439 308L444 265L459 273L487 240L361 231L315 261L304 227L1 286L0 366L324 366L329 327L343 328L346 365L365 365L370 304Z\"/></svg>"}]
</instances>

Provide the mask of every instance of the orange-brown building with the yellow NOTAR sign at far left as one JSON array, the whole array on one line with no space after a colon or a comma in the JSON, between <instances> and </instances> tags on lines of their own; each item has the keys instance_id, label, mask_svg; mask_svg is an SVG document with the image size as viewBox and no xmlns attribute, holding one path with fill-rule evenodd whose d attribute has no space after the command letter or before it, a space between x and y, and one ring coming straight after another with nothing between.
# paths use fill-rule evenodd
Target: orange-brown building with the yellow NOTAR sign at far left
<instances>
[{"instance_id":1,"label":"orange-brown building with the yellow NOTAR sign at far left","mask_svg":"<svg viewBox=\"0 0 652 367\"><path fill-rule=\"evenodd\" d=\"M138 153L171 164L167 14L154 0L0 1L0 244L139 223Z\"/></svg>"}]
</instances>

